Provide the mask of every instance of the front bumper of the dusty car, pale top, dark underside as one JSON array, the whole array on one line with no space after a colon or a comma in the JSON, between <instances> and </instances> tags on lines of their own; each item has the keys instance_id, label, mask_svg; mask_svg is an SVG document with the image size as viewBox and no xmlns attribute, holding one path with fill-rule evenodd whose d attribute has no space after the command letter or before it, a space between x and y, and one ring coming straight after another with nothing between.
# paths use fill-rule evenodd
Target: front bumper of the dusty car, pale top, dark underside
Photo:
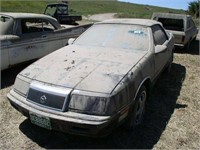
<instances>
[{"instance_id":1,"label":"front bumper of the dusty car, pale top, dark underside","mask_svg":"<svg viewBox=\"0 0 200 150\"><path fill-rule=\"evenodd\" d=\"M26 100L25 97L11 90L7 97L11 105L30 118L29 113L34 113L43 117L48 117L53 130L64 133L71 133L84 136L101 137L112 132L117 126L118 115L95 116L75 112L60 112L43 108Z\"/></svg>"}]
</instances>

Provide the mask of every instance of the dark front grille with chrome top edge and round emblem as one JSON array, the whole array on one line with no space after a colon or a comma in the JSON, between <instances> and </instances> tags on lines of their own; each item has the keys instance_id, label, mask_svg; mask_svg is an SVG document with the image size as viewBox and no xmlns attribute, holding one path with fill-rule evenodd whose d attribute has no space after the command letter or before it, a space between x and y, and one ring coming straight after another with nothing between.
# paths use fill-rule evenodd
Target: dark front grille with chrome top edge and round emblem
<instances>
[{"instance_id":1,"label":"dark front grille with chrome top edge and round emblem","mask_svg":"<svg viewBox=\"0 0 200 150\"><path fill-rule=\"evenodd\" d=\"M69 93L69 89L33 82L27 100L43 107L64 111Z\"/></svg>"}]
</instances>

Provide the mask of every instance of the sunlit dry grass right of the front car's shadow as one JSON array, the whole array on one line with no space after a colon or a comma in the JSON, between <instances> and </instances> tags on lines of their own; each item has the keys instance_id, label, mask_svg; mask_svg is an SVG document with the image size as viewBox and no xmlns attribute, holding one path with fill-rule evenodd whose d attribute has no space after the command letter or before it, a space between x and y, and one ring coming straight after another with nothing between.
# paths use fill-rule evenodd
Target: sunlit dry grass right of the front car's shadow
<instances>
[{"instance_id":1,"label":"sunlit dry grass right of the front car's shadow","mask_svg":"<svg viewBox=\"0 0 200 150\"><path fill-rule=\"evenodd\" d=\"M181 85L180 92L174 102L173 113L155 148L198 149L200 147L200 57L184 53L176 54L174 63L184 67L182 71L179 70L174 74L174 76L182 74L182 80L178 83Z\"/></svg>"}]
</instances>

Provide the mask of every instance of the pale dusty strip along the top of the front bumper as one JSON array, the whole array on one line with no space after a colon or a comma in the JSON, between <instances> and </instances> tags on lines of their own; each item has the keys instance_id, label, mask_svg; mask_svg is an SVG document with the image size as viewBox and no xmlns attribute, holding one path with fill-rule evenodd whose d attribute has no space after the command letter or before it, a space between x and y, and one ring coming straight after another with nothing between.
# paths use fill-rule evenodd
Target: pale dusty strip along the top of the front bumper
<instances>
[{"instance_id":1,"label":"pale dusty strip along the top of the front bumper","mask_svg":"<svg viewBox=\"0 0 200 150\"><path fill-rule=\"evenodd\" d=\"M74 122L77 124L100 125L109 121L112 118L111 116L95 116L95 115L80 114L76 112L58 112L46 109L42 110L37 105L33 106L32 103L25 101L25 97L22 97L13 90L11 90L7 94L7 98L13 103L33 113L42 115L44 117L50 117L53 119Z\"/></svg>"}]
</instances>

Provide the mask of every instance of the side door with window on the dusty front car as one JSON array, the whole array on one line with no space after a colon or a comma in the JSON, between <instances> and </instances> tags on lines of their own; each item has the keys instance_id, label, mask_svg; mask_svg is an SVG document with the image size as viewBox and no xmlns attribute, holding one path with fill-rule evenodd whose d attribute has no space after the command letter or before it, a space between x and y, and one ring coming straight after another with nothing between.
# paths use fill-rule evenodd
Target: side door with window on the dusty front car
<instances>
[{"instance_id":1,"label":"side door with window on the dusty front car","mask_svg":"<svg viewBox=\"0 0 200 150\"><path fill-rule=\"evenodd\" d=\"M155 76L157 76L164 67L168 64L170 60L170 48L169 48L169 39L160 25L154 25L152 27L154 45L155 45ZM159 47L163 48L160 51L157 51Z\"/></svg>"}]
</instances>

